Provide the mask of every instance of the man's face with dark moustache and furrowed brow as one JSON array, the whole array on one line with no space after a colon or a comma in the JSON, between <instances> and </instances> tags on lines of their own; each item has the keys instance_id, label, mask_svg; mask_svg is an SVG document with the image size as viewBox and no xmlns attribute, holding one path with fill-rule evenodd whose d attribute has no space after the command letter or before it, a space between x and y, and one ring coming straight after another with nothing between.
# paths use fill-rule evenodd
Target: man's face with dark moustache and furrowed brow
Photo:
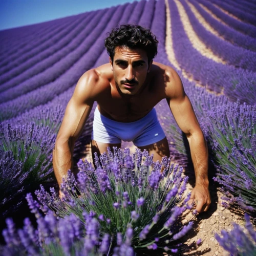
<instances>
[{"instance_id":1,"label":"man's face with dark moustache and furrowed brow","mask_svg":"<svg viewBox=\"0 0 256 256\"><path fill-rule=\"evenodd\" d=\"M152 62L148 65L146 52L142 49L116 47L113 63L111 58L110 63L121 93L135 95L143 86Z\"/></svg>"}]
</instances>

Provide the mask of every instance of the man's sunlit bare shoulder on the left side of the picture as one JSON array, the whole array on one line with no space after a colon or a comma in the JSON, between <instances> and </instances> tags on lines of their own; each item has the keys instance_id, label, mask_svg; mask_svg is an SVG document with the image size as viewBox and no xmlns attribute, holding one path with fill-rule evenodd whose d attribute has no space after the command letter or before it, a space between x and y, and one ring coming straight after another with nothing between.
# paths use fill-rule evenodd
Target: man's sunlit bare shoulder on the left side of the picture
<instances>
[{"instance_id":1,"label":"man's sunlit bare shoulder on the left side of the picture","mask_svg":"<svg viewBox=\"0 0 256 256\"><path fill-rule=\"evenodd\" d=\"M81 100L97 99L97 96L110 86L107 65L84 72L79 78L74 91L74 97Z\"/></svg>"}]
</instances>

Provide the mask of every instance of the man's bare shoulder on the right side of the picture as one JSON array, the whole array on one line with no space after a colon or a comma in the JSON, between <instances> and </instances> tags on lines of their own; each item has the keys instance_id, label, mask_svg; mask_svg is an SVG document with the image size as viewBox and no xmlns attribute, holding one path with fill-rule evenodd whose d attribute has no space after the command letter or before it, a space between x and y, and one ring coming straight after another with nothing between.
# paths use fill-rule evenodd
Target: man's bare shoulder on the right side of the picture
<instances>
[{"instance_id":1,"label":"man's bare shoulder on the right side of the picture","mask_svg":"<svg viewBox=\"0 0 256 256\"><path fill-rule=\"evenodd\" d=\"M164 92L166 98L184 97L184 88L178 73L167 65L159 62L153 62L159 69L158 80L164 81Z\"/></svg>"}]
</instances>

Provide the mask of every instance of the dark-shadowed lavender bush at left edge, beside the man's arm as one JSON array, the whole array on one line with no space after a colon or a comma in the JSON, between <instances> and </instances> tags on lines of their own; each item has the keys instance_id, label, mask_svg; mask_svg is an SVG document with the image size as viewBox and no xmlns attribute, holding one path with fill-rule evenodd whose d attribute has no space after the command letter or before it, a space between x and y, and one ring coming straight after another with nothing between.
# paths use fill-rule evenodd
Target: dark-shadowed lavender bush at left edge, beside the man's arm
<instances>
[{"instance_id":1,"label":"dark-shadowed lavender bush at left edge, beside the man's arm","mask_svg":"<svg viewBox=\"0 0 256 256\"><path fill-rule=\"evenodd\" d=\"M56 134L43 124L4 128L0 124L0 212L17 208L22 195L41 183L53 181L52 148ZM12 200L18 200L17 202Z\"/></svg>"}]
</instances>

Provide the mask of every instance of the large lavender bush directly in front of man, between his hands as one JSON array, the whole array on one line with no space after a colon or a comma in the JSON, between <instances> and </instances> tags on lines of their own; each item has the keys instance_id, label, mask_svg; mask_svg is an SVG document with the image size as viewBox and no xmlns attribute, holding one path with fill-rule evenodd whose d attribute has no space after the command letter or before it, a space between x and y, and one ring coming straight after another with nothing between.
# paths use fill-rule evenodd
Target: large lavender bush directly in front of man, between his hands
<instances>
[{"instance_id":1,"label":"large lavender bush directly in front of man, between his hands","mask_svg":"<svg viewBox=\"0 0 256 256\"><path fill-rule=\"evenodd\" d=\"M153 155L137 150L130 155L128 148L108 148L100 159L95 155L96 170L86 160L78 162L77 179L68 172L60 190L62 200L54 189L48 193L43 186L36 190L38 202L31 194L27 200L32 212L40 218L40 210L53 211L59 218L75 214L84 222L83 212L96 218L100 224L100 236L108 233L111 253L122 243L135 251L161 248L178 251L177 241L192 227L189 222L183 227L177 223L182 212L190 208L187 201L181 202L187 177L182 177L182 168L170 164L164 157L162 164L153 162ZM163 172L161 172L161 169ZM88 217L89 218L89 217ZM119 248L121 253L121 247ZM126 250L126 249L125 249Z\"/></svg>"}]
</instances>

